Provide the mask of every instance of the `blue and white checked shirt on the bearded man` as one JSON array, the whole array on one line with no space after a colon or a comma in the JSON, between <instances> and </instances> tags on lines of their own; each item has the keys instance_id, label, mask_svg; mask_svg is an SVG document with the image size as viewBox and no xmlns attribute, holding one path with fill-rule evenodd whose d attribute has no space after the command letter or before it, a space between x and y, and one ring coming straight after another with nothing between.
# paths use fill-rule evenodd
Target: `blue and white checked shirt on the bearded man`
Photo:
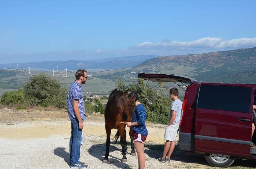
<instances>
[{"instance_id":1,"label":"blue and white checked shirt on the bearded man","mask_svg":"<svg viewBox=\"0 0 256 169\"><path fill-rule=\"evenodd\" d=\"M73 108L73 99L78 99L78 108L80 111L80 116L82 120L85 120L84 96L82 94L81 87L82 85L79 84L77 81L72 83L69 87L66 107L68 110L70 120L76 118L75 111Z\"/></svg>"}]
</instances>

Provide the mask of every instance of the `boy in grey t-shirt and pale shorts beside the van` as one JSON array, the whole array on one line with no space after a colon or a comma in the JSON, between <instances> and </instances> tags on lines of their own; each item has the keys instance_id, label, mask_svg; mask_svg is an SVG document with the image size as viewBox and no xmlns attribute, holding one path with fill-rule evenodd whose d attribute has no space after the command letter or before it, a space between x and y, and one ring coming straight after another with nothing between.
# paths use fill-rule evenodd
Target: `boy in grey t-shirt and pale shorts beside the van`
<instances>
[{"instance_id":1,"label":"boy in grey t-shirt and pale shorts beside the van","mask_svg":"<svg viewBox=\"0 0 256 169\"><path fill-rule=\"evenodd\" d=\"M182 102L178 98L179 91L177 88L170 89L170 98L174 100L170 108L169 122L165 128L164 139L166 140L163 156L159 158L160 162L170 162L170 156L175 147L175 139L181 120ZM168 154L167 154L168 153Z\"/></svg>"}]
</instances>

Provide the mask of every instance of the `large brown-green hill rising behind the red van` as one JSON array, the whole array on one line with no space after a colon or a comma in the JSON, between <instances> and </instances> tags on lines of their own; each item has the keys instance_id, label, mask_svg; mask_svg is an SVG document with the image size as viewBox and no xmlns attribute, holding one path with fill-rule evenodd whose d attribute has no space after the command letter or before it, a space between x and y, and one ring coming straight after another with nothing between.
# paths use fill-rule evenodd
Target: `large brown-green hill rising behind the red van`
<instances>
[{"instance_id":1,"label":"large brown-green hill rising behind the red van","mask_svg":"<svg viewBox=\"0 0 256 169\"><path fill-rule=\"evenodd\" d=\"M100 78L131 79L137 73L164 73L192 77L200 82L256 84L256 47L202 54L159 56L129 69L96 72Z\"/></svg>"}]
</instances>

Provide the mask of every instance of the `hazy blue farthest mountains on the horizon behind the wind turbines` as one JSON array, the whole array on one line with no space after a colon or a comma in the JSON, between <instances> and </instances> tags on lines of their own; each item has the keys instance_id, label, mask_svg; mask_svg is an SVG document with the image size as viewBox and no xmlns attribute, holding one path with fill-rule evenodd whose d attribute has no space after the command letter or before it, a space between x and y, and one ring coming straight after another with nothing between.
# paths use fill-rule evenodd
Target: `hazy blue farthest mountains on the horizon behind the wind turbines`
<instances>
[{"instance_id":1,"label":"hazy blue farthest mountains on the horizon behind the wind turbines","mask_svg":"<svg viewBox=\"0 0 256 169\"><path fill-rule=\"evenodd\" d=\"M19 69L31 69L31 70L78 70L85 68L87 70L113 70L122 69L127 67L133 67L146 60L152 59L154 55L139 55L139 56L124 56L115 58L106 58L101 60L88 60L88 61L43 61L43 62L30 62L30 63L18 63ZM9 69L15 66L17 69L17 63L0 64L0 68ZM58 66L58 67L57 67ZM90 71L92 72L92 71Z\"/></svg>"}]
</instances>

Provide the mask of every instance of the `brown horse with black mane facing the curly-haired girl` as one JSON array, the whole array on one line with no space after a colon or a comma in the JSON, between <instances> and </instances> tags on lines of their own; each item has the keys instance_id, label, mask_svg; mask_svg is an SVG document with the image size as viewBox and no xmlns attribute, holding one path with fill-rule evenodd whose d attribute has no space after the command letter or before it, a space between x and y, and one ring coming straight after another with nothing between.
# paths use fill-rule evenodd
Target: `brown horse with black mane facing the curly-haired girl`
<instances>
[{"instance_id":1,"label":"brown horse with black mane facing the curly-haired girl","mask_svg":"<svg viewBox=\"0 0 256 169\"><path fill-rule=\"evenodd\" d=\"M119 136L120 136L120 144L122 146L122 162L127 162L127 158L125 156L125 152L127 150L127 142L126 142L126 131L124 124L120 122L132 121L132 115L129 110L127 110L128 98L126 97L129 89L126 92L118 91L117 89L113 90L108 98L106 108L105 108L105 129L107 134L106 140L106 153L103 160L103 163L108 162L109 156L109 145L110 145L110 134L111 129L117 129L117 133L114 137L114 141L116 144ZM134 150L134 143L132 139L132 129L130 128L129 135L131 138L131 148L132 155L135 156L136 152Z\"/></svg>"}]
</instances>

